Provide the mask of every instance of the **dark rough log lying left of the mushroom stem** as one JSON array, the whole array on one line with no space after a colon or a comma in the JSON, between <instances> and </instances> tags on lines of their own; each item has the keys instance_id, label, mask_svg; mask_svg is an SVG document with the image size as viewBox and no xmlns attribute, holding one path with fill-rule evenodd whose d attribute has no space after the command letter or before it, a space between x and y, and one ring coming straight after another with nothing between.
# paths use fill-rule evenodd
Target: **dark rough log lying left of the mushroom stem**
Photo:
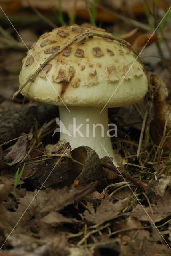
<instances>
[{"instance_id":1,"label":"dark rough log lying left of the mushroom stem","mask_svg":"<svg viewBox=\"0 0 171 256\"><path fill-rule=\"evenodd\" d=\"M40 128L44 122L49 122L54 116L58 116L58 107L49 104L25 106L4 112L0 117L0 144L19 137L22 132L28 133L28 126L34 127L34 117ZM12 141L2 147L7 148L15 142Z\"/></svg>"}]
</instances>

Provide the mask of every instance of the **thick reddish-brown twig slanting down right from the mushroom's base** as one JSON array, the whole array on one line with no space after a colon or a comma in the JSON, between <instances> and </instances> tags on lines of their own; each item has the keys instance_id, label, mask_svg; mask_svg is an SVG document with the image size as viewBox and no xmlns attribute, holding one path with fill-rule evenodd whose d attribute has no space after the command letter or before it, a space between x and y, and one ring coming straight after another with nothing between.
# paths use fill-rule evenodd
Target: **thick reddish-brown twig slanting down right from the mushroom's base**
<instances>
[{"instance_id":1,"label":"thick reddish-brown twig slanting down right from the mushroom's base","mask_svg":"<svg viewBox=\"0 0 171 256\"><path fill-rule=\"evenodd\" d=\"M123 170L121 168L117 168L116 166L114 166L114 164L109 164L106 162L102 162L101 166L103 166L104 168L107 168L109 170L112 170L113 172L117 172L118 174L122 174L122 176L124 178L126 178L127 180L130 180L131 182L133 182L134 184L136 184L139 188L141 188L142 190L145 190L147 184L142 182L141 180L138 180L137 178L131 176L130 174L128 174L127 172L123 172ZM118 171L118 170L119 171Z\"/></svg>"}]
</instances>

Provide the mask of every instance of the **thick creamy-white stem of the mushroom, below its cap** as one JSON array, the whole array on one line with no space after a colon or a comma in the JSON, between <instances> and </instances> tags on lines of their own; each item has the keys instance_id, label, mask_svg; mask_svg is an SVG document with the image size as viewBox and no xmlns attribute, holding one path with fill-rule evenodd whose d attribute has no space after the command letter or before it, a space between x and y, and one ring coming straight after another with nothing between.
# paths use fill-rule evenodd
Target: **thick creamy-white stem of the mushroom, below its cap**
<instances>
[{"instance_id":1,"label":"thick creamy-white stem of the mushroom, below its cap","mask_svg":"<svg viewBox=\"0 0 171 256\"><path fill-rule=\"evenodd\" d=\"M69 107L69 109L71 113L65 106L59 106L60 140L66 139L72 149L83 145L89 146L96 151L99 158L109 154L113 157L113 163L118 166L109 135L111 130L115 130L117 134L117 127L108 126L107 108L102 112L102 108L94 107Z\"/></svg>"}]
</instances>

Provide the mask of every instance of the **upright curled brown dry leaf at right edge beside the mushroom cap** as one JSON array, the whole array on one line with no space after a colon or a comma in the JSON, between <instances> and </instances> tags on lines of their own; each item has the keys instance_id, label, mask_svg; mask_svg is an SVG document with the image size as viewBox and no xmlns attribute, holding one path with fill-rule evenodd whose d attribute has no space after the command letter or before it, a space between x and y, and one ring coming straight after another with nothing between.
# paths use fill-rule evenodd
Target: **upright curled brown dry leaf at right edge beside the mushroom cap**
<instances>
[{"instance_id":1,"label":"upright curled brown dry leaf at right edge beside the mushroom cap","mask_svg":"<svg viewBox=\"0 0 171 256\"><path fill-rule=\"evenodd\" d=\"M168 88L165 82L157 75L151 75L151 84L155 91L154 114L151 134L153 141L159 144L165 130L165 149L171 152L171 105L168 103ZM166 127L165 127L166 125ZM167 135L167 137L166 137Z\"/></svg>"}]
</instances>

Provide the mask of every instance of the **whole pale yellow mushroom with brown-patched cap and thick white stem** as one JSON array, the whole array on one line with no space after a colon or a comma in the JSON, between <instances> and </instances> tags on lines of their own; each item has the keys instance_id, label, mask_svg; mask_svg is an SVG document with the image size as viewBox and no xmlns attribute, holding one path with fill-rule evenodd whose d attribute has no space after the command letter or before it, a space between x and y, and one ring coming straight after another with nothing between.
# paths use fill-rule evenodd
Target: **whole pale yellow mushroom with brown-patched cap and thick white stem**
<instances>
[{"instance_id":1,"label":"whole pale yellow mushroom with brown-patched cap and thick white stem","mask_svg":"<svg viewBox=\"0 0 171 256\"><path fill-rule=\"evenodd\" d=\"M132 46L100 28L55 28L40 36L31 47L31 54L28 52L23 59L20 86L38 69L38 64L84 32L95 32L100 37L87 36L70 44L44 66L22 94L59 106L60 140L68 140L72 149L90 146L100 158L109 154L117 165L107 108L139 102L148 90L147 73Z\"/></svg>"}]
</instances>

